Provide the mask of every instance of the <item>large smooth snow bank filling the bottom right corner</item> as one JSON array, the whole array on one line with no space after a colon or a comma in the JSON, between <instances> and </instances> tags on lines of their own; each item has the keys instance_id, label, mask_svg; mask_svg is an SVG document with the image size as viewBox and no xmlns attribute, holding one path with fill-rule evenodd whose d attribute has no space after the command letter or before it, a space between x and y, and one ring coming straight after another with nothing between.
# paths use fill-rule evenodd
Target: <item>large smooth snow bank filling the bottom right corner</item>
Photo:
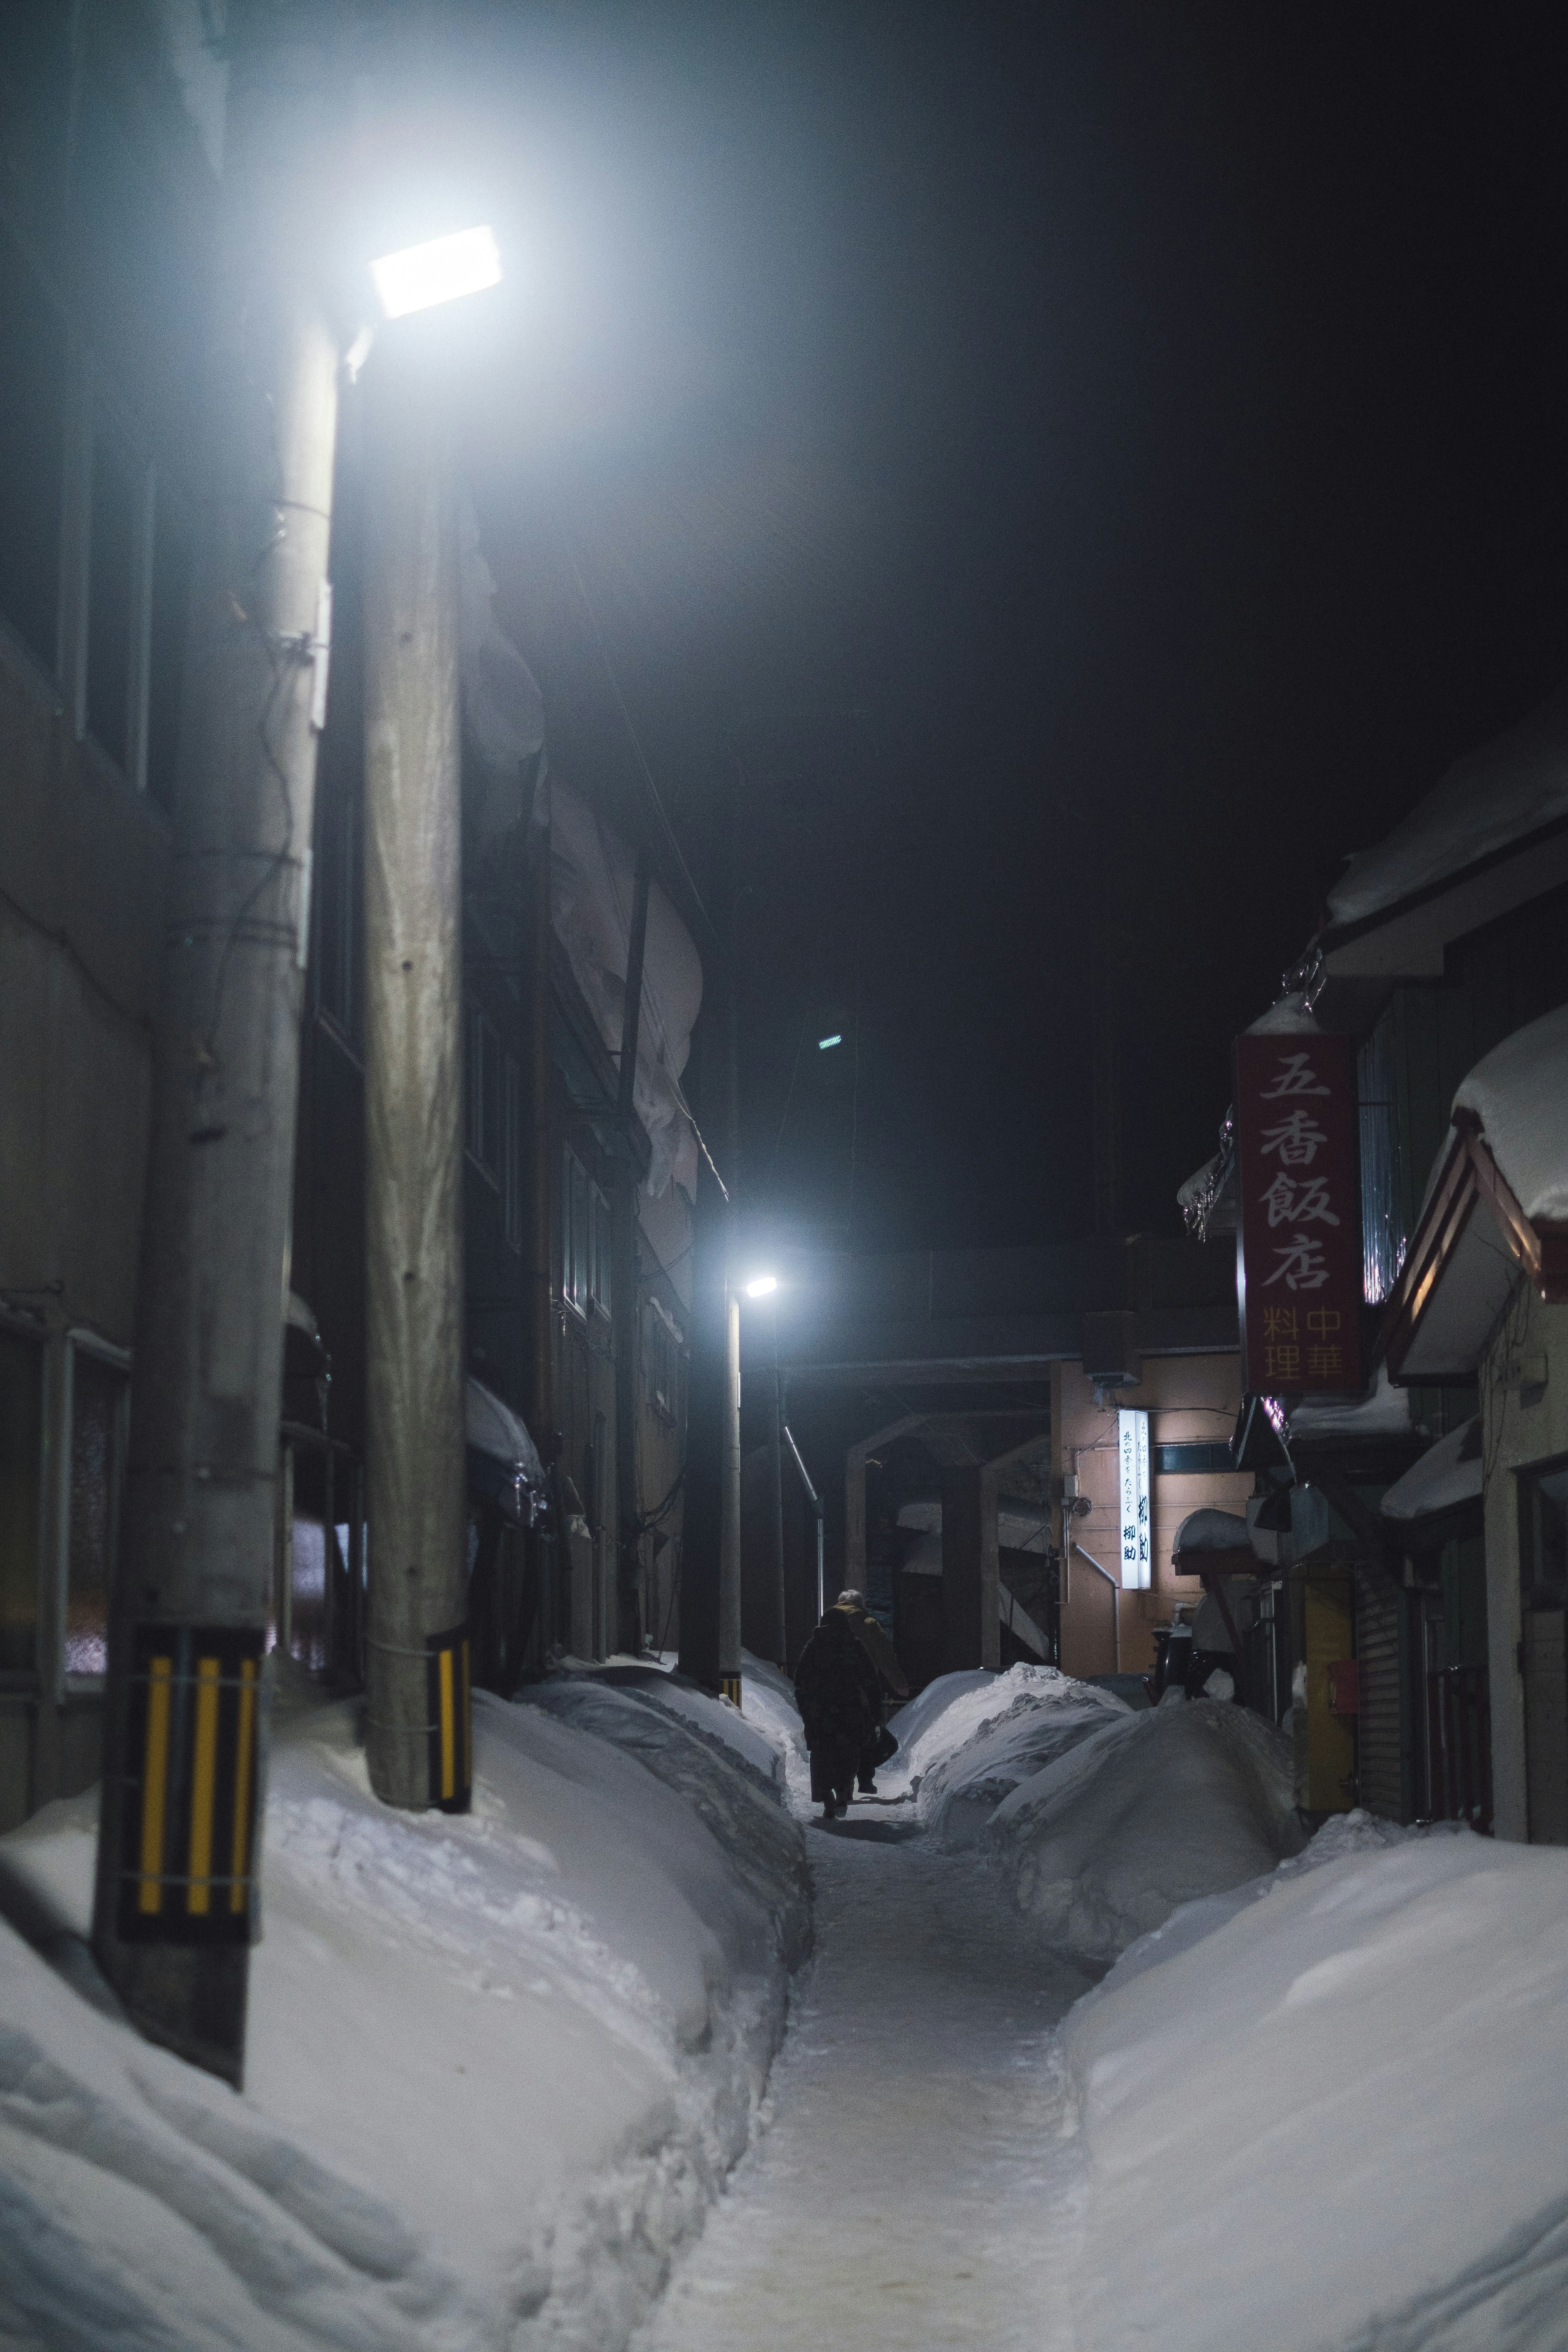
<instances>
[{"instance_id":1,"label":"large smooth snow bank filling the bottom right corner","mask_svg":"<svg viewBox=\"0 0 1568 2352\"><path fill-rule=\"evenodd\" d=\"M1568 1853L1472 1832L1107 1980L1065 2027L1081 2352L1561 2352L1566 2013Z\"/></svg>"}]
</instances>

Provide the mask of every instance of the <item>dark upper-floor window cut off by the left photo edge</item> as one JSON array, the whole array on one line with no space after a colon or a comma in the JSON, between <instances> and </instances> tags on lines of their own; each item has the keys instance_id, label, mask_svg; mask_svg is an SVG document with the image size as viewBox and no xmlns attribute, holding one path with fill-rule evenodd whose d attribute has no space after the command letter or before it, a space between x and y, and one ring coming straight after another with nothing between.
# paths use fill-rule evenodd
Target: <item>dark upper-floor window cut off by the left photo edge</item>
<instances>
[{"instance_id":1,"label":"dark upper-floor window cut off by the left photo edge","mask_svg":"<svg viewBox=\"0 0 1568 2352\"><path fill-rule=\"evenodd\" d=\"M59 659L66 334L0 233L0 614L47 670Z\"/></svg>"}]
</instances>

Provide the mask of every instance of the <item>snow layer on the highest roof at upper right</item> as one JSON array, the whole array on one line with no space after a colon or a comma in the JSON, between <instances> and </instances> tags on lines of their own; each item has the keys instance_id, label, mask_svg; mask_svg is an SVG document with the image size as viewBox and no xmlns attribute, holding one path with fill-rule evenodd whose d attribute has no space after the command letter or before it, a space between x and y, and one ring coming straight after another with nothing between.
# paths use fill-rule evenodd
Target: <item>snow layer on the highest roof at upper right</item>
<instances>
[{"instance_id":1,"label":"snow layer on the highest roof at upper right","mask_svg":"<svg viewBox=\"0 0 1568 2352\"><path fill-rule=\"evenodd\" d=\"M1568 687L1458 760L1387 840L1354 856L1328 891L1328 917L1380 915L1559 816L1568 816Z\"/></svg>"}]
</instances>

